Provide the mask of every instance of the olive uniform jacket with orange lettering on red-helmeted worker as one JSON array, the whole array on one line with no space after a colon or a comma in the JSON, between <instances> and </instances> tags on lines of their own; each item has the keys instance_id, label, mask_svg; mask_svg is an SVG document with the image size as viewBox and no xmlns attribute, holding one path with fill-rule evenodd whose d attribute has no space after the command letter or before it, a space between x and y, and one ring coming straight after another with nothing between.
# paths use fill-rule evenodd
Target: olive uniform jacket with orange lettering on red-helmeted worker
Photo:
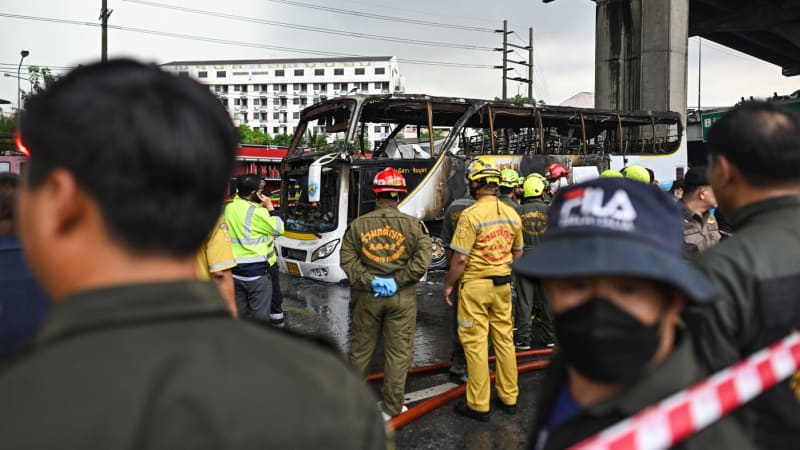
<instances>
[{"instance_id":1,"label":"olive uniform jacket with orange lettering on red-helmeted worker","mask_svg":"<svg viewBox=\"0 0 800 450\"><path fill-rule=\"evenodd\" d=\"M398 293L416 295L414 286L431 264L431 238L425 225L391 206L355 219L339 255L350 285L372 295L372 279L394 278Z\"/></svg>"}]
</instances>

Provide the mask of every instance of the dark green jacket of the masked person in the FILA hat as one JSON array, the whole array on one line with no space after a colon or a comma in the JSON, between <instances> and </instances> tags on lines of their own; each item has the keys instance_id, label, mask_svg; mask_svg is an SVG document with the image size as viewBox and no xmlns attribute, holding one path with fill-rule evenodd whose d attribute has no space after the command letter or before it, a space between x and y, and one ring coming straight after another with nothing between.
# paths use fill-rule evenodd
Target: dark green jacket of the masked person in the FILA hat
<instances>
[{"instance_id":1,"label":"dark green jacket of the masked person in the FILA hat","mask_svg":"<svg viewBox=\"0 0 800 450\"><path fill-rule=\"evenodd\" d=\"M677 334L677 344L660 366L642 375L619 394L583 408L576 416L559 424L549 433L544 430L559 391L567 382L567 367L559 355L545 372L537 400L533 441L530 448L563 449L630 417L646 407L688 387L705 377L695 358L688 333ZM673 449L739 450L755 448L736 422L726 417L692 435Z\"/></svg>"}]
</instances>

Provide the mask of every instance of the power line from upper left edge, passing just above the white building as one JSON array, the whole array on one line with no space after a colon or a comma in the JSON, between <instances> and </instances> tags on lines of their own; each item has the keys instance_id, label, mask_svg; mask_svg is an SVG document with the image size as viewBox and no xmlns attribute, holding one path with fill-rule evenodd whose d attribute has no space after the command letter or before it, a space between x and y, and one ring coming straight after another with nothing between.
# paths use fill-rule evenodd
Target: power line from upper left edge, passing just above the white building
<instances>
[{"instance_id":1,"label":"power line from upper left edge, passing just above the white building","mask_svg":"<svg viewBox=\"0 0 800 450\"><path fill-rule=\"evenodd\" d=\"M23 16L19 14L8 14L8 13L0 13L0 17L8 17L12 19L21 19L21 20L33 20L33 21L41 21L41 22L53 22L53 23L62 23L68 25L82 25L82 26L89 26L89 27L99 27L100 24L94 22L81 22L77 20L67 20L67 19L55 19L52 17L37 17L37 16ZM241 42L241 41L232 41L229 39L218 39L218 38L211 38L206 36L193 36L187 34L179 34L179 33L170 33L166 31L157 31L157 30L147 30L143 28L132 28L132 27L125 27L121 25L108 25L109 28L120 30L120 31L129 31L133 33L142 33L142 34L151 34L156 36L166 36L166 37L173 37L179 39L188 39L188 40L195 40L195 41L203 41L203 42L212 42L217 44L225 44L225 45L236 45L242 47L252 47L252 48L261 48L266 50L279 50L285 52L294 52L294 53L304 53L316 56L329 56L329 57L353 57L353 58L363 58L363 55L355 55L349 53L334 53L334 52L327 52L322 50L309 50L309 49L301 49L301 48L293 48L293 47L280 47L275 45L265 45L265 44L254 44L252 42ZM403 62L407 64L423 64L423 65L431 65L431 66L446 66L446 67L461 67L461 68L469 68L469 69L491 69L492 66L490 65L483 65L483 64L460 64L460 63L448 63L448 62L439 62L439 61L426 61L426 60L416 60L416 59L398 59L398 62Z\"/></svg>"}]
</instances>

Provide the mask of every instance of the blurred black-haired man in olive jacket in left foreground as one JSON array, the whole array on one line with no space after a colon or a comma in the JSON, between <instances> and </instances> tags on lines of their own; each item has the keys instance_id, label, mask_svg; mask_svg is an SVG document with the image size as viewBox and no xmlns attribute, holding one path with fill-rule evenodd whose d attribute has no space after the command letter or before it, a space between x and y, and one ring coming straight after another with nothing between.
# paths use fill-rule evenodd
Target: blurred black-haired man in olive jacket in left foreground
<instances>
[{"instance_id":1,"label":"blurred black-haired man in olive jacket in left foreground","mask_svg":"<svg viewBox=\"0 0 800 450\"><path fill-rule=\"evenodd\" d=\"M195 279L237 147L208 89L131 60L82 66L27 102L21 139L18 220L54 307L0 368L0 448L385 447L344 361L234 320Z\"/></svg>"}]
</instances>

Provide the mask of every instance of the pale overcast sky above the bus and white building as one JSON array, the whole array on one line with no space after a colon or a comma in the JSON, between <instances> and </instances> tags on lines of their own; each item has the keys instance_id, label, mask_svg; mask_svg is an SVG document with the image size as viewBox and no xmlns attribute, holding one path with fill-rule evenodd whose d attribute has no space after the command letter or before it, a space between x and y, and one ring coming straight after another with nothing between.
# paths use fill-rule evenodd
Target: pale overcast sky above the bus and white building
<instances>
[{"instance_id":1,"label":"pale overcast sky above the bus and white building","mask_svg":"<svg viewBox=\"0 0 800 450\"><path fill-rule=\"evenodd\" d=\"M303 27L321 27L401 39L452 43L475 47L498 47L502 37L486 31L378 20L355 14L338 14L304 8L274 0L108 0L113 9L112 26L156 32L202 36L232 43L212 43L134 31L109 30L109 56L127 56L164 63L190 59L291 58L313 57L308 53L263 48L324 51L348 55L393 55L404 60L449 62L481 66L499 65L500 53L384 42L338 36L308 30L234 20L219 16L166 9L157 5L179 5L192 9L245 16L259 20L285 22ZM509 20L513 34L509 42L525 45L528 27L534 29L536 76L534 96L558 104L581 91L594 91L595 5L589 0L561 0L543 4L540 0L298 0L366 14L425 20L478 29L502 28ZM97 23L100 0L2 0L0 14ZM0 16L0 71L16 75L20 50L30 51L22 68L28 65L57 69L96 60L100 55L100 28L86 25L26 20ZM245 47L238 43L250 43ZM262 48L259 48L261 46ZM697 104L697 38L689 42L688 104ZM751 58L709 41L702 44L702 105L726 106L742 96L764 97L773 92L789 94L800 89L800 77L786 78L780 67ZM524 59L521 56L513 58ZM515 67L512 65L512 67ZM526 77L524 67L516 66L512 76ZM400 63L408 92L442 96L492 98L500 95L498 70L470 67ZM0 98L16 102L17 80L0 77ZM27 82L22 81L23 89ZM509 82L509 95L525 95L527 87ZM8 111L8 106L6 106Z\"/></svg>"}]
</instances>

